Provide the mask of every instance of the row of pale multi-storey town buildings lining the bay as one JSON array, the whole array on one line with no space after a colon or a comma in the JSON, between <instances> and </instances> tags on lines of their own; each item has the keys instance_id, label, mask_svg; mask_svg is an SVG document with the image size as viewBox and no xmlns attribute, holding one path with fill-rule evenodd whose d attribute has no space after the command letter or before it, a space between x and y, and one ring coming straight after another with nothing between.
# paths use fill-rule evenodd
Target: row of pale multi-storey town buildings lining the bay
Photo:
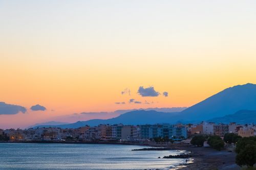
<instances>
[{"instance_id":1,"label":"row of pale multi-storey town buildings lining the bay","mask_svg":"<svg viewBox=\"0 0 256 170\"><path fill-rule=\"evenodd\" d=\"M155 125L98 125L62 129L59 127L37 127L29 129L0 129L2 141L62 141L62 142L146 142L155 138L171 139L175 142L191 139L196 135L217 135L223 137L234 133L241 137L256 135L254 124L239 125L236 123L215 124L202 122L193 124L155 124Z\"/></svg>"}]
</instances>

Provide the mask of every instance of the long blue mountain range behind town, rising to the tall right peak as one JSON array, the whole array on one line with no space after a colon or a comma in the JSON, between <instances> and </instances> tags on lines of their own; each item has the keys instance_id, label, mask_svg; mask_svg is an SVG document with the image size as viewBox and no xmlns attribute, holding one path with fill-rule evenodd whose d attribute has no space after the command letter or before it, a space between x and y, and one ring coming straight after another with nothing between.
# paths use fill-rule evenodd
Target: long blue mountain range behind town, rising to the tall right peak
<instances>
[{"instance_id":1,"label":"long blue mountain range behind town, rising to the tall right peak","mask_svg":"<svg viewBox=\"0 0 256 170\"><path fill-rule=\"evenodd\" d=\"M256 85L245 84L227 88L204 101L191 106L181 112L158 112L155 110L135 110L123 113L110 119L91 119L74 124L58 125L61 128L77 128L84 125L96 126L99 124L142 125L156 123L199 123L204 120L223 117L239 110L256 110ZM254 114L248 112L247 114ZM241 121L247 120L240 115ZM237 122L237 121L231 121ZM244 121L245 122L245 121ZM248 122L248 123L251 123Z\"/></svg>"}]
</instances>

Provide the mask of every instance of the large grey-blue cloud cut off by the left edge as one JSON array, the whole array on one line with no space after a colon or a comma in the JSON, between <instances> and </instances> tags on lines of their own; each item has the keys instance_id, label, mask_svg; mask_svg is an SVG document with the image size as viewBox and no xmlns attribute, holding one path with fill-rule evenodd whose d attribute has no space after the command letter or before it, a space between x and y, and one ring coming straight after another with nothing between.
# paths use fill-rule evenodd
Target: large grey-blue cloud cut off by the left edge
<instances>
[{"instance_id":1,"label":"large grey-blue cloud cut off by the left edge","mask_svg":"<svg viewBox=\"0 0 256 170\"><path fill-rule=\"evenodd\" d=\"M10 105L5 102L0 102L0 114L17 114L18 112L25 113L27 109L23 106Z\"/></svg>"}]
</instances>

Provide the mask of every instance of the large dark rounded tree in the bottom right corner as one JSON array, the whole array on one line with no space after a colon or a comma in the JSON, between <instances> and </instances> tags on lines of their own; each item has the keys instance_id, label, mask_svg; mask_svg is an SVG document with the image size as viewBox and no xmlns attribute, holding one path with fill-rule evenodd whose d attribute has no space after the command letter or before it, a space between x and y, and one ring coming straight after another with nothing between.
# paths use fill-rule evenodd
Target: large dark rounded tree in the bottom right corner
<instances>
[{"instance_id":1,"label":"large dark rounded tree in the bottom right corner","mask_svg":"<svg viewBox=\"0 0 256 170\"><path fill-rule=\"evenodd\" d=\"M237 155L236 163L239 166L253 166L256 163L256 145L247 144L245 148Z\"/></svg>"}]
</instances>

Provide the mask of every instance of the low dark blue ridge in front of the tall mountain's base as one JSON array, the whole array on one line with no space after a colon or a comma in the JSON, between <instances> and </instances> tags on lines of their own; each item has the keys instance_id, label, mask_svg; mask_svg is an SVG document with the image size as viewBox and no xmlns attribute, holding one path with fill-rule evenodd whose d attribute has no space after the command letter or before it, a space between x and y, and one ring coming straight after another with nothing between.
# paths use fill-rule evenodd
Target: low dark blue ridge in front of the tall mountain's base
<instances>
[{"instance_id":1,"label":"low dark blue ridge in front of the tall mountain's base","mask_svg":"<svg viewBox=\"0 0 256 170\"><path fill-rule=\"evenodd\" d=\"M234 114L228 114L223 117L216 117L207 120L206 122L229 124L235 122L237 124L256 123L256 110L240 110Z\"/></svg>"}]
</instances>

